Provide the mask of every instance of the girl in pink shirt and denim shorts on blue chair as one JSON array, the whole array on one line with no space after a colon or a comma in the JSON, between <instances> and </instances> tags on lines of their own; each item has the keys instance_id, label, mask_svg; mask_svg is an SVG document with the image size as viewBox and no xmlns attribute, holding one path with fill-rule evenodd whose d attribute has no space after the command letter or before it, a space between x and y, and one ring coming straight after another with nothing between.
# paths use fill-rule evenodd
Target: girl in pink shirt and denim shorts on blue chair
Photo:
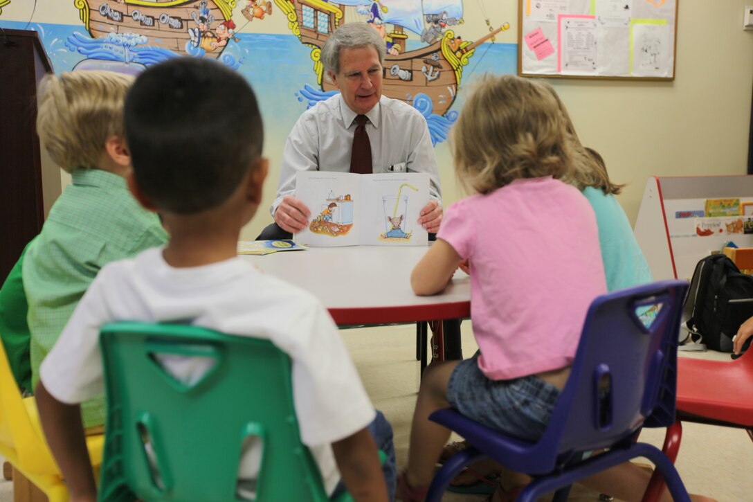
<instances>
[{"instance_id":1,"label":"girl in pink shirt and denim shorts on blue chair","mask_svg":"<svg viewBox=\"0 0 753 502\"><path fill-rule=\"evenodd\" d=\"M458 178L474 192L450 206L410 277L417 295L471 275L480 352L426 369L413 415L403 500L423 500L450 431L428 421L453 406L529 441L546 430L575 357L586 311L606 292L596 217L559 181L575 161L553 96L512 75L487 77L453 127Z\"/></svg>"}]
</instances>

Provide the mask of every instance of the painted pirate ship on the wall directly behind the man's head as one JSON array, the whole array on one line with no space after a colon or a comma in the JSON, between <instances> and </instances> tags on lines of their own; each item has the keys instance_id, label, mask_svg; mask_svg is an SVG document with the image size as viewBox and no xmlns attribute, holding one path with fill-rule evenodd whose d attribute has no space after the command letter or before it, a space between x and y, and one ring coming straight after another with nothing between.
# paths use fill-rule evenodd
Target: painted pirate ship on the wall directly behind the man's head
<instances>
[{"instance_id":1,"label":"painted pirate ship on the wall directly behind the man's head","mask_svg":"<svg viewBox=\"0 0 753 502\"><path fill-rule=\"evenodd\" d=\"M335 90L323 75L320 58L322 46L341 23L366 20L385 39L387 56L382 90L386 96L401 99L422 112L429 106L428 115L437 116L445 115L453 105L463 68L473 57L474 49L510 27L505 23L477 41L463 41L447 29L463 23L461 0L275 0L275 3L288 17L291 32L311 49L322 93L310 87L301 90L309 103L325 99ZM408 51L406 30L419 35L424 45ZM449 118L452 120L454 115Z\"/></svg>"}]
</instances>

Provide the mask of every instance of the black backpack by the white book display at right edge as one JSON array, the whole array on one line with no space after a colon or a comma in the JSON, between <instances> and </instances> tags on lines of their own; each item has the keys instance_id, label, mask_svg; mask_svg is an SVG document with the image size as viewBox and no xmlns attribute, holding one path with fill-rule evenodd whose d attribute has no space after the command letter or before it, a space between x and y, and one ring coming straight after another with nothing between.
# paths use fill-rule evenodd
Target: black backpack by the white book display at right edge
<instances>
[{"instance_id":1,"label":"black backpack by the white book display at right edge","mask_svg":"<svg viewBox=\"0 0 753 502\"><path fill-rule=\"evenodd\" d=\"M683 309L691 338L712 350L732 352L732 337L753 316L753 277L723 254L696 265Z\"/></svg>"}]
</instances>

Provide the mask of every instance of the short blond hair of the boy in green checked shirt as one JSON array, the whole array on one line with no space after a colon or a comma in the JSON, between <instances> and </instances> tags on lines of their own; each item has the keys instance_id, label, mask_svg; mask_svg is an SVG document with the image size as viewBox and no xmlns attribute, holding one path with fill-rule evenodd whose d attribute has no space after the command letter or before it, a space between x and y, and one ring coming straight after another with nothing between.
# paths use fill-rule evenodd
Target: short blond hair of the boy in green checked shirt
<instances>
[{"instance_id":1,"label":"short blond hair of the boy in green checked shirt","mask_svg":"<svg viewBox=\"0 0 753 502\"><path fill-rule=\"evenodd\" d=\"M116 72L79 71L45 75L37 133L63 170L98 167L105 142L123 133L123 101L133 77Z\"/></svg>"}]
</instances>

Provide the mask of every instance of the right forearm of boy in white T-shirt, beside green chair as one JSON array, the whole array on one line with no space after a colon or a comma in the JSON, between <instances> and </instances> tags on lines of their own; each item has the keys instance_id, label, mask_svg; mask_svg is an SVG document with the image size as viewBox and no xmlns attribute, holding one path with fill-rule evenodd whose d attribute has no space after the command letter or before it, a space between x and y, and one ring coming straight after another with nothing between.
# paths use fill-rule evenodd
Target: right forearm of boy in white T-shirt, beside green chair
<instances>
[{"instance_id":1,"label":"right forearm of boy in white T-shirt, beside green chair","mask_svg":"<svg viewBox=\"0 0 753 502\"><path fill-rule=\"evenodd\" d=\"M332 443L337 468L353 500L387 500L387 485L367 428Z\"/></svg>"}]
</instances>

